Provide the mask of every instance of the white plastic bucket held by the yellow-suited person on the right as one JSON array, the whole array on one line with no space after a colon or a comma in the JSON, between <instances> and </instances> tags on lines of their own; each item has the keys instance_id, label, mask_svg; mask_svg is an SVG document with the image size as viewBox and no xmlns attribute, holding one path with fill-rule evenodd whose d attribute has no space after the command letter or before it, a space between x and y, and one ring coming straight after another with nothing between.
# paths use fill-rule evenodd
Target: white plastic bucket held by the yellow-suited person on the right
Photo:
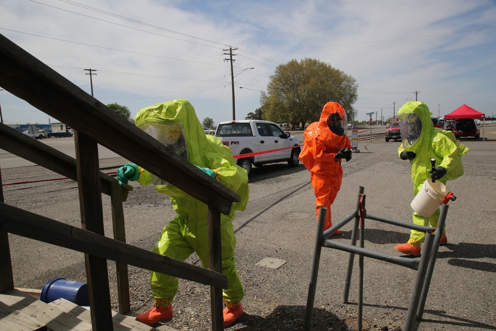
<instances>
[{"instance_id":1,"label":"white plastic bucket held by the yellow-suited person on the right","mask_svg":"<svg viewBox=\"0 0 496 331\"><path fill-rule=\"evenodd\" d=\"M410 205L419 215L431 217L449 194L448 188L439 181L428 178Z\"/></svg>"}]
</instances>

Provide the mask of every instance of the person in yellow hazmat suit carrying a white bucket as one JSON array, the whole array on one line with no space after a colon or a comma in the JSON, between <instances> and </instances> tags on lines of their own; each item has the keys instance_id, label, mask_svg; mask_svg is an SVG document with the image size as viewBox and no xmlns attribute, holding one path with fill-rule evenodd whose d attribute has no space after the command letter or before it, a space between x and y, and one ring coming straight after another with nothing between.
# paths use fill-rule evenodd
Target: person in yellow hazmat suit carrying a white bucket
<instances>
[{"instance_id":1,"label":"person in yellow hazmat suit carrying a white bucket","mask_svg":"<svg viewBox=\"0 0 496 331\"><path fill-rule=\"evenodd\" d=\"M402 160L410 160L413 193L416 196L424 182L429 178L446 184L448 180L463 175L462 155L468 148L461 145L453 132L434 128L431 121L432 113L424 102L410 101L398 110L402 143L398 148L398 155ZM435 158L435 170L432 170L431 158ZM440 209L431 217L423 217L413 213L413 222L423 226L437 226ZM419 256L420 246L424 241L425 233L417 230L410 231L410 239L405 244L394 247L404 254ZM440 245L447 243L445 229L443 229Z\"/></svg>"}]
</instances>

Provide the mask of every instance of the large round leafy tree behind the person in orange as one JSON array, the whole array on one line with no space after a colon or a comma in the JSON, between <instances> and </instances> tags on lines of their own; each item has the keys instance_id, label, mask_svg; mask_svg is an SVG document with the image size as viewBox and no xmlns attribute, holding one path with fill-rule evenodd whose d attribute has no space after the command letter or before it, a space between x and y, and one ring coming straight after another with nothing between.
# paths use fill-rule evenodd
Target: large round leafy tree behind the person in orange
<instances>
[{"instance_id":1,"label":"large round leafy tree behind the person in orange","mask_svg":"<svg viewBox=\"0 0 496 331\"><path fill-rule=\"evenodd\" d=\"M260 95L263 117L276 123L295 124L318 121L329 101L340 103L350 119L357 111L355 78L331 65L314 59L291 60L279 65L269 77L267 92Z\"/></svg>"}]
</instances>

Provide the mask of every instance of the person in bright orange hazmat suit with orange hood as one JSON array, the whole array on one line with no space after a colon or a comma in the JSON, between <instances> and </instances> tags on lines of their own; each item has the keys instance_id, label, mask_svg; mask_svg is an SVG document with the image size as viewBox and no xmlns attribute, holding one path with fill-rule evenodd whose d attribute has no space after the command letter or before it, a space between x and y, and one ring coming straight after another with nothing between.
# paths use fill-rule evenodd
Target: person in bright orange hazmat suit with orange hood
<instances>
[{"instance_id":1,"label":"person in bright orange hazmat suit with orange hood","mask_svg":"<svg viewBox=\"0 0 496 331\"><path fill-rule=\"evenodd\" d=\"M343 169L341 159L351 160L350 138L346 135L348 121L344 108L337 102L325 104L318 122L311 123L304 132L300 160L310 171L315 193L315 210L326 207L324 231L332 226L331 204L341 188ZM334 234L340 234L337 230Z\"/></svg>"}]
</instances>

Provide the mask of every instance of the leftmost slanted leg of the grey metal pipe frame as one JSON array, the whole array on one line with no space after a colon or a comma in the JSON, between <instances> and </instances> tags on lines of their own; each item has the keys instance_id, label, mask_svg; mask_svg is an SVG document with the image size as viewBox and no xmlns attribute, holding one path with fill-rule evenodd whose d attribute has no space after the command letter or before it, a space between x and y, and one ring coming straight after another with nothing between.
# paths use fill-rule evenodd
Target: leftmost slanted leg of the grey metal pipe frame
<instances>
[{"instance_id":1,"label":"leftmost slanted leg of the grey metal pipe frame","mask_svg":"<svg viewBox=\"0 0 496 331\"><path fill-rule=\"evenodd\" d=\"M310 270L310 284L307 296L307 308L305 309L304 331L310 331L311 315L313 311L313 301L315 300L315 288L317 286L318 266L320 263L320 253L322 251L322 233L324 232L325 214L327 208L320 207L318 211L317 233L315 234L315 245L313 247L313 260Z\"/></svg>"}]
</instances>

